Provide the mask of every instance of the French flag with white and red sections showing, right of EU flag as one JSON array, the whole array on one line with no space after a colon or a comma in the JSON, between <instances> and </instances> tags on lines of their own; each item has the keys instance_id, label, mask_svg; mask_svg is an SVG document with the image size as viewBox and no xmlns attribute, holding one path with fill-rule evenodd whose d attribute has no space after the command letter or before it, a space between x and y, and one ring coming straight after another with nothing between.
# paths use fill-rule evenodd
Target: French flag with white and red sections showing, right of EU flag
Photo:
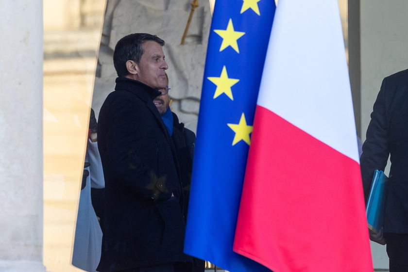
<instances>
[{"instance_id":1,"label":"French flag with white and red sections showing, right of EU flag","mask_svg":"<svg viewBox=\"0 0 408 272\"><path fill-rule=\"evenodd\" d=\"M337 0L279 0L234 251L273 272L372 272Z\"/></svg>"}]
</instances>

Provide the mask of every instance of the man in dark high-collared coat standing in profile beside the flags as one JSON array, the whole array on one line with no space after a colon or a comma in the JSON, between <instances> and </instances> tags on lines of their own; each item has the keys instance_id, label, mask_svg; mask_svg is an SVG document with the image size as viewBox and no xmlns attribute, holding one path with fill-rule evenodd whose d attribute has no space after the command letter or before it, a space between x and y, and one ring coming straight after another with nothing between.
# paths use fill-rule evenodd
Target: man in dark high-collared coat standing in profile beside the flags
<instances>
[{"instance_id":1,"label":"man in dark high-collared coat standing in profile beside the flags","mask_svg":"<svg viewBox=\"0 0 408 272\"><path fill-rule=\"evenodd\" d=\"M153 103L168 65L157 36L119 40L115 91L98 118L105 177L101 272L191 271L183 253L183 184L176 149Z\"/></svg>"}]
</instances>

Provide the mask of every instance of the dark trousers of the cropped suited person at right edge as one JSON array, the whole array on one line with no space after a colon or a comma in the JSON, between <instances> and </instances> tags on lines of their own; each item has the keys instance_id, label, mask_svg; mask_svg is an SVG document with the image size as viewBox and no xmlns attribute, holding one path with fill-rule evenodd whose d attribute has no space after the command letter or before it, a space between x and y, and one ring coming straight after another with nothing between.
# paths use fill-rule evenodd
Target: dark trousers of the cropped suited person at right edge
<instances>
[{"instance_id":1,"label":"dark trousers of the cropped suited person at right edge","mask_svg":"<svg viewBox=\"0 0 408 272\"><path fill-rule=\"evenodd\" d=\"M384 233L387 254L390 258L390 272L408 271L408 234Z\"/></svg>"}]
</instances>

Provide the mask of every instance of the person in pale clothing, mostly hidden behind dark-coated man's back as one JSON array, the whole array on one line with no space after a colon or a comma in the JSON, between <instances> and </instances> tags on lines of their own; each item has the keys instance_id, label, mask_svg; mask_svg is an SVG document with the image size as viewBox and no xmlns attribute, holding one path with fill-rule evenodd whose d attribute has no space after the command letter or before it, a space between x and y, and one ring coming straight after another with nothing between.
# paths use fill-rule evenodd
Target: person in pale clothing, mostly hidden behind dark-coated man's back
<instances>
[{"instance_id":1,"label":"person in pale clothing, mostly hidden behind dark-coated man's back","mask_svg":"<svg viewBox=\"0 0 408 272\"><path fill-rule=\"evenodd\" d=\"M102 229L92 206L91 188L101 189L105 187L98 142L96 141L96 119L94 118L95 114L91 110L90 133L85 155L86 167L84 168L86 182L83 182L81 187L72 254L72 265L88 272L96 272L101 259L102 245ZM92 125L95 128L91 128ZM88 176L86 176L85 170L89 171Z\"/></svg>"}]
</instances>

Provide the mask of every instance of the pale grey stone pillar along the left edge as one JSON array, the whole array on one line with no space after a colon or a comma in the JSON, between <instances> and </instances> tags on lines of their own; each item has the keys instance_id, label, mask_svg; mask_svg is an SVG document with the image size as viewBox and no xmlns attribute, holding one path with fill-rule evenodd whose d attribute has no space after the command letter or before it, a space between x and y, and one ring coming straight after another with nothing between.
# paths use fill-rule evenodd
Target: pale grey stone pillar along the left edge
<instances>
[{"instance_id":1,"label":"pale grey stone pillar along the left edge","mask_svg":"<svg viewBox=\"0 0 408 272\"><path fill-rule=\"evenodd\" d=\"M42 0L0 0L0 272L42 264Z\"/></svg>"}]
</instances>

